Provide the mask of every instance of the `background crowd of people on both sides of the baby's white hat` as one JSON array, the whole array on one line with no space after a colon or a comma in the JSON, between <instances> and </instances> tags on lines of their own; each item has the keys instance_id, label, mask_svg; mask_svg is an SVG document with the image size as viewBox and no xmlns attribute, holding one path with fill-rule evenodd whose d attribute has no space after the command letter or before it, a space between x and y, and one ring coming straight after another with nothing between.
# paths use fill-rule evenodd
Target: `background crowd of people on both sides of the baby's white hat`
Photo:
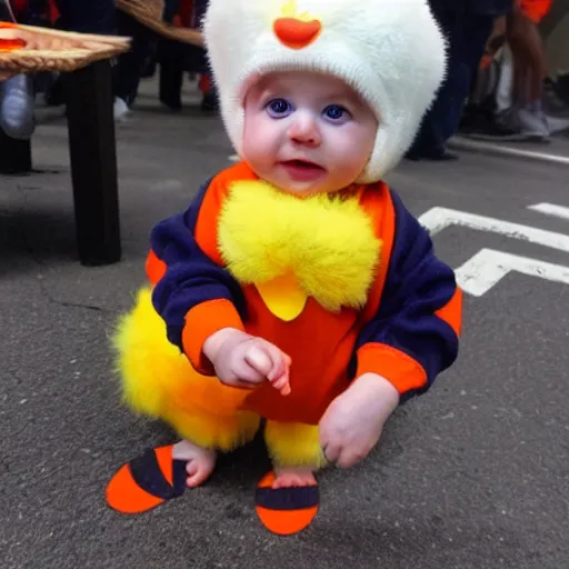
<instances>
[{"instance_id":1,"label":"background crowd of people on both sides of the baby's white hat","mask_svg":"<svg viewBox=\"0 0 569 569\"><path fill-rule=\"evenodd\" d=\"M543 109L545 94L557 97L561 107L569 104L568 92L557 86L547 93L543 91L545 86L551 87L551 81L538 26L553 0L429 1L448 39L448 73L407 153L408 159L455 159L447 142L459 130L545 140L552 130L569 126L567 121L560 124L558 119L548 117ZM131 51L120 56L114 66L117 120L126 118L133 108L141 79L154 72L159 73L160 101L172 111L181 109L181 92L188 73L200 78L202 110L217 110L203 49L157 36L118 10L114 0L12 0L11 7L17 20L23 23L133 38ZM176 26L198 28L206 8L207 0L166 0L163 19ZM4 9L0 17L9 19L11 16ZM22 99L23 93L31 100L37 91L43 91L48 104L64 103L57 74L36 78L31 86L29 79L22 77L4 83L3 108L10 108L10 101ZM14 109L21 111L21 117L18 112L14 114L20 121L19 130L13 129L14 136L30 134L33 104L12 107L12 114ZM2 113L6 114L3 110ZM6 121L3 126L7 130Z\"/></svg>"}]
</instances>

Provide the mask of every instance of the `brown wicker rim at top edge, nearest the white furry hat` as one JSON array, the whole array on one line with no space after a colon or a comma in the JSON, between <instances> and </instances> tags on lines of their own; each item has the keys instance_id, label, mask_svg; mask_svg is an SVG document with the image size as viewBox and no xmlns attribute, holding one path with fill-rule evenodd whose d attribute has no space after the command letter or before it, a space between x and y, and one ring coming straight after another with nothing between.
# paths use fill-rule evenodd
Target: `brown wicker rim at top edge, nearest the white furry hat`
<instances>
[{"instance_id":1,"label":"brown wicker rim at top edge, nearest the white furry hat","mask_svg":"<svg viewBox=\"0 0 569 569\"><path fill-rule=\"evenodd\" d=\"M199 30L170 26L162 20L163 0L117 0L117 8L164 38L203 47Z\"/></svg>"}]
</instances>

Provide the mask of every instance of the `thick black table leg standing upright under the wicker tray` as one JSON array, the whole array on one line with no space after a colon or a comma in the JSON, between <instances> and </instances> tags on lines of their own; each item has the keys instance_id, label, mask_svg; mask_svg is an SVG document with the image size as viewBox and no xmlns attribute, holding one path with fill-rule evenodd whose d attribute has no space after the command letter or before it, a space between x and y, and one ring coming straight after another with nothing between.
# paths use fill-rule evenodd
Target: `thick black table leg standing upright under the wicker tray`
<instances>
[{"instance_id":1,"label":"thick black table leg standing upright under the wicker tray","mask_svg":"<svg viewBox=\"0 0 569 569\"><path fill-rule=\"evenodd\" d=\"M64 87L79 258L110 264L121 257L110 61L66 73Z\"/></svg>"}]
</instances>

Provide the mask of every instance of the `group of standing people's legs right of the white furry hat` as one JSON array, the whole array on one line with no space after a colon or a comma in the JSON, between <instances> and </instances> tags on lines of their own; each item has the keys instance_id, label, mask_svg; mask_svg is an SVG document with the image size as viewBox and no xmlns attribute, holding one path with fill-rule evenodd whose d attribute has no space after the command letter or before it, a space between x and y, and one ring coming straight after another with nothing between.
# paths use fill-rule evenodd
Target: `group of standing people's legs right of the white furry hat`
<instances>
[{"instance_id":1,"label":"group of standing people's legs right of the white furry hat","mask_svg":"<svg viewBox=\"0 0 569 569\"><path fill-rule=\"evenodd\" d=\"M567 117L543 108L548 70L539 23L552 2L430 0L449 41L449 68L408 158L455 159L447 141L459 130L543 141L569 127ZM557 110L563 103L569 110L567 90L548 94L559 99Z\"/></svg>"}]
</instances>

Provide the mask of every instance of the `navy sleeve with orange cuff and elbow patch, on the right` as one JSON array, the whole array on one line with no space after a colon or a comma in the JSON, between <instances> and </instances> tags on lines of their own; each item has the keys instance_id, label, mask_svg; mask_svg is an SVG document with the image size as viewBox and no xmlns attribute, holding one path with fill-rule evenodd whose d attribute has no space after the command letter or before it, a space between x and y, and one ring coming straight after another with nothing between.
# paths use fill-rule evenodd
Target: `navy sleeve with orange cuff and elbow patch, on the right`
<instances>
[{"instance_id":1,"label":"navy sleeve with orange cuff and elbow patch, on the right","mask_svg":"<svg viewBox=\"0 0 569 569\"><path fill-rule=\"evenodd\" d=\"M462 293L428 231L391 193L393 248L378 311L358 339L357 373L386 377L405 400L427 391L456 360Z\"/></svg>"}]
</instances>

